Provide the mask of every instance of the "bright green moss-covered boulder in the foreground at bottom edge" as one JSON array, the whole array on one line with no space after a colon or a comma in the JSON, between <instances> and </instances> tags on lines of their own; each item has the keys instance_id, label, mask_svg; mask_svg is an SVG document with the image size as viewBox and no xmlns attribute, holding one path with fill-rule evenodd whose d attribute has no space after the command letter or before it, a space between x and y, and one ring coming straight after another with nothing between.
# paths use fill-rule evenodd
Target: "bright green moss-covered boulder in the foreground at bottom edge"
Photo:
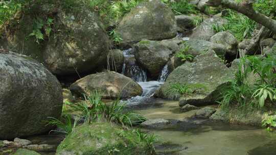
<instances>
[{"instance_id":1,"label":"bright green moss-covered boulder in the foreground at bottom edge","mask_svg":"<svg viewBox=\"0 0 276 155\"><path fill-rule=\"evenodd\" d=\"M93 123L78 126L67 135L57 148L56 155L88 155L88 154L153 154L136 133L124 131L110 123Z\"/></svg>"}]
</instances>

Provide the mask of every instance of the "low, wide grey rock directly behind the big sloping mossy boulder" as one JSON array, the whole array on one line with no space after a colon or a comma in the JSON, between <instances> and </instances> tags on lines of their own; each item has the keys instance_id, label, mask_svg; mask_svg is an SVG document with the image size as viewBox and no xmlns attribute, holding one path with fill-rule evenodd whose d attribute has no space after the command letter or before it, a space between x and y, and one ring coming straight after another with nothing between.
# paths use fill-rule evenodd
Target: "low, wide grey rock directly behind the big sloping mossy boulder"
<instances>
[{"instance_id":1,"label":"low, wide grey rock directly behind the big sloping mossy boulder","mask_svg":"<svg viewBox=\"0 0 276 155\"><path fill-rule=\"evenodd\" d=\"M231 52L231 49L228 49L225 45L201 39L190 39L181 44L180 48L186 48L187 46L189 47L188 54L191 54L194 57L200 54L205 54L208 50L214 50L216 54L222 58L224 58L226 53Z\"/></svg>"}]
</instances>

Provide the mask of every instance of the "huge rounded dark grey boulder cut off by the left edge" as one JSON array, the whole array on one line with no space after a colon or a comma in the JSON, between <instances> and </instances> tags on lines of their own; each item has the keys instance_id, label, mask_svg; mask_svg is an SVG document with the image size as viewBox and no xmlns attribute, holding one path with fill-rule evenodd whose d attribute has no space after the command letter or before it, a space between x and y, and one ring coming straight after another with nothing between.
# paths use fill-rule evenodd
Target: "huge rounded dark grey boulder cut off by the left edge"
<instances>
[{"instance_id":1,"label":"huge rounded dark grey boulder cut off by the left edge","mask_svg":"<svg viewBox=\"0 0 276 155\"><path fill-rule=\"evenodd\" d=\"M56 77L35 60L0 51L0 139L41 134L48 117L59 118L62 89Z\"/></svg>"}]
</instances>

